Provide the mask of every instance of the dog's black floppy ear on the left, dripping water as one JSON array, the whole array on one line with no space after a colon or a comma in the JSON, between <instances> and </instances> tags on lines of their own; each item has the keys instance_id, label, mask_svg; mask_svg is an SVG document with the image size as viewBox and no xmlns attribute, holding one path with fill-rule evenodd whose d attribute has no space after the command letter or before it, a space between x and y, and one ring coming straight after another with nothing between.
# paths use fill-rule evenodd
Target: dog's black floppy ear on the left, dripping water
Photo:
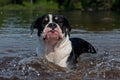
<instances>
[{"instance_id":1,"label":"dog's black floppy ear on the left, dripping water","mask_svg":"<svg viewBox=\"0 0 120 80\"><path fill-rule=\"evenodd\" d=\"M34 29L38 29L38 36L40 36L40 29L41 29L41 23L42 23L42 17L40 17L40 18L38 18L38 19L36 19L33 23L32 23L32 25L31 25L31 28L30 28L30 30L31 30L31 35L33 34L33 32L34 32Z\"/></svg>"}]
</instances>

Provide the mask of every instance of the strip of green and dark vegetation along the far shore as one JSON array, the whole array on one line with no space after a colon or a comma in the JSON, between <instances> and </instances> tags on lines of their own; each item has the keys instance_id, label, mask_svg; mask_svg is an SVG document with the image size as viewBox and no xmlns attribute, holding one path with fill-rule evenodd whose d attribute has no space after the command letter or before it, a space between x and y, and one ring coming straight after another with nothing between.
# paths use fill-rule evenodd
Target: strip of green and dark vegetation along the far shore
<instances>
[{"instance_id":1,"label":"strip of green and dark vegetation along the far shore","mask_svg":"<svg viewBox=\"0 0 120 80\"><path fill-rule=\"evenodd\" d=\"M0 9L120 11L120 0L0 0Z\"/></svg>"}]
</instances>

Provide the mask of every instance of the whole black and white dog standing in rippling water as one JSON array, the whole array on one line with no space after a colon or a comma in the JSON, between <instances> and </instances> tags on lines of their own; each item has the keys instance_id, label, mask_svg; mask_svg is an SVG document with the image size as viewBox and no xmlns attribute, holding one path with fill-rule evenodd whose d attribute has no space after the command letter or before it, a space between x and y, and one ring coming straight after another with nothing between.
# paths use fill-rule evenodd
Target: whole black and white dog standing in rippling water
<instances>
[{"instance_id":1,"label":"whole black and white dog standing in rippling water","mask_svg":"<svg viewBox=\"0 0 120 80\"><path fill-rule=\"evenodd\" d=\"M95 48L80 38L69 38L71 26L62 15L47 14L33 22L38 38L45 46L45 58L61 67L74 67L82 53L96 53ZM40 44L41 45L41 44Z\"/></svg>"}]
</instances>

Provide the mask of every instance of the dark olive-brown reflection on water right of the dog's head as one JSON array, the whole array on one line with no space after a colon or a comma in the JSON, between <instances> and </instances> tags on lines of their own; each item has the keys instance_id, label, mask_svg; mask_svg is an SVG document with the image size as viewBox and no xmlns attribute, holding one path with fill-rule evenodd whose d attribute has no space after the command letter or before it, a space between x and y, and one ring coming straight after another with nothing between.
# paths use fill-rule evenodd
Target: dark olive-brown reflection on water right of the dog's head
<instances>
[{"instance_id":1,"label":"dark olive-brown reflection on water right of the dog's head","mask_svg":"<svg viewBox=\"0 0 120 80\"><path fill-rule=\"evenodd\" d=\"M90 31L106 31L120 28L120 15L114 12L69 12L63 13L74 28Z\"/></svg>"}]
</instances>

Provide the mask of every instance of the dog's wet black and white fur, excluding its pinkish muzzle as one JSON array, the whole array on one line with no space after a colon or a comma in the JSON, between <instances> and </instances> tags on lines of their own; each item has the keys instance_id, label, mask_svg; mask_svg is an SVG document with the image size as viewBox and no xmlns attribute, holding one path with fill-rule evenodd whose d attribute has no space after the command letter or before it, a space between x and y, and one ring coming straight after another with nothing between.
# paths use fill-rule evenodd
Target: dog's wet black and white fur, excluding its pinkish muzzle
<instances>
[{"instance_id":1,"label":"dog's wet black and white fur, excluding its pinkish muzzle","mask_svg":"<svg viewBox=\"0 0 120 80\"><path fill-rule=\"evenodd\" d=\"M55 20L57 18L58 22L59 19L61 19L60 23ZM46 45L44 52L45 58L48 61L53 62L61 67L74 68L80 54L96 53L95 48L89 42L80 38L69 38L71 26L68 20L62 15L47 14L38 18L33 22L31 26L31 34L33 33L33 29L36 28L38 30L38 37L43 38L43 31L47 28L46 25L43 25L44 19L46 19L46 25L49 25L51 23L56 24L57 27L59 27L61 30L60 34L62 34L63 36L63 39L61 39L61 41L58 42L57 45L51 46L49 45L49 43ZM49 19L48 22L47 19ZM53 28L53 26L51 26L50 28Z\"/></svg>"}]
</instances>

